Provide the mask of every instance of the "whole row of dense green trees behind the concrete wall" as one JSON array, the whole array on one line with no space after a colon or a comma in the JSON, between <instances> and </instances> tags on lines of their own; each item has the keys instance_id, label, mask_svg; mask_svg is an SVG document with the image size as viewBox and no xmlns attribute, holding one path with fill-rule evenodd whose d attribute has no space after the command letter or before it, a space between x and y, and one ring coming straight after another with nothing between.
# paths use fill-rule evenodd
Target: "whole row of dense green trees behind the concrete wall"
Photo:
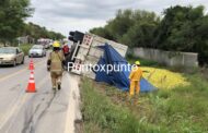
<instances>
[{"instance_id":1,"label":"whole row of dense green trees behind the concrete wall","mask_svg":"<svg viewBox=\"0 0 208 133\"><path fill-rule=\"evenodd\" d=\"M104 27L90 32L129 47L187 51L199 55L200 65L208 64L208 14L203 5L175 5L161 16L141 10L119 10Z\"/></svg>"}]
</instances>

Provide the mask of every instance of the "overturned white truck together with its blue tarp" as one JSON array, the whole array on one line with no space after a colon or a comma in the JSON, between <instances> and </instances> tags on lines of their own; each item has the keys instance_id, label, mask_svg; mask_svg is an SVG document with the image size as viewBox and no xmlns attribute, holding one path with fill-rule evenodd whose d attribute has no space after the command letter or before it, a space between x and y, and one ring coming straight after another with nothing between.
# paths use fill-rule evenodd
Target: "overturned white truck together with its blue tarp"
<instances>
[{"instance_id":1,"label":"overturned white truck together with its blue tarp","mask_svg":"<svg viewBox=\"0 0 208 133\"><path fill-rule=\"evenodd\" d=\"M131 65L125 60L127 46L90 33L72 32L70 35L69 39L73 41L73 46L68 71L112 84L123 90L129 89L128 76ZM145 78L141 80L140 85L141 92L155 89Z\"/></svg>"}]
</instances>

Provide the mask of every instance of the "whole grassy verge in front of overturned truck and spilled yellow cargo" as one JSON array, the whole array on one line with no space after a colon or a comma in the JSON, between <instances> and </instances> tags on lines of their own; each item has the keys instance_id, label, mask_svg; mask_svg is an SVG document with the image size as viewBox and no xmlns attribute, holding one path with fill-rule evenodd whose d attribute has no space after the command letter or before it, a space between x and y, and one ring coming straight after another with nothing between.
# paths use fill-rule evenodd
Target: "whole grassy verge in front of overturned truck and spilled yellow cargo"
<instances>
[{"instance_id":1,"label":"whole grassy verge in front of overturned truck and spilled yellow cargo","mask_svg":"<svg viewBox=\"0 0 208 133\"><path fill-rule=\"evenodd\" d=\"M135 60L131 59L131 61ZM152 68L160 68L151 61L143 60L142 62ZM82 78L84 132L208 132L208 78L205 77L205 70L198 69L192 74L181 74L189 83L188 85L175 86L171 89L163 87L152 93L141 93L132 99L129 99L127 92Z\"/></svg>"}]
</instances>

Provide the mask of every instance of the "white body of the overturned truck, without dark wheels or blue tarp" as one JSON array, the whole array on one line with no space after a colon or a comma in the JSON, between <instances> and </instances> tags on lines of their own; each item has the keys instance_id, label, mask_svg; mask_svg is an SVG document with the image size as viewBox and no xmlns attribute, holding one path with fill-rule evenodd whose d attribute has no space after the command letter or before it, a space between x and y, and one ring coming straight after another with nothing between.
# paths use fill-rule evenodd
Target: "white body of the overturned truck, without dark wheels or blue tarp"
<instances>
[{"instance_id":1,"label":"white body of the overturned truck, without dark wheels or blue tarp","mask_svg":"<svg viewBox=\"0 0 208 133\"><path fill-rule=\"evenodd\" d=\"M84 35L82 44L78 43L74 49L74 51L78 51L78 47L80 47L77 56L76 52L73 52L72 59L76 59L76 61L71 72L95 78L94 72L82 71L81 65L97 64L100 58L104 53L104 50L99 48L97 46L104 46L106 43L111 45L115 50L117 50L123 57L126 56L126 52L128 50L127 46L86 33Z\"/></svg>"}]
</instances>

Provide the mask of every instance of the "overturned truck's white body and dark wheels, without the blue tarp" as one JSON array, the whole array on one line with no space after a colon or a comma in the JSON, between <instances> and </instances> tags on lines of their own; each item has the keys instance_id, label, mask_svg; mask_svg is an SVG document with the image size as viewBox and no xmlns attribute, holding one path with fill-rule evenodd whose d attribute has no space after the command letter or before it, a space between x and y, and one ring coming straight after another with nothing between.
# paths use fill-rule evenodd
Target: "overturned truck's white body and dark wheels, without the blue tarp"
<instances>
[{"instance_id":1,"label":"overturned truck's white body and dark wheels, without the blue tarp","mask_svg":"<svg viewBox=\"0 0 208 133\"><path fill-rule=\"evenodd\" d=\"M95 78L95 73L93 71L83 71L83 65L89 66L85 70L93 70L93 66L97 64L101 57L104 55L104 49L102 46L108 44L112 46L122 57L126 56L128 47L97 35L80 32L71 33L72 37L69 39L73 40L73 48L70 56L69 64L71 66L70 71L76 74L82 74L91 78ZM72 65L73 63L73 65ZM90 65L88 65L90 64Z\"/></svg>"}]
</instances>

